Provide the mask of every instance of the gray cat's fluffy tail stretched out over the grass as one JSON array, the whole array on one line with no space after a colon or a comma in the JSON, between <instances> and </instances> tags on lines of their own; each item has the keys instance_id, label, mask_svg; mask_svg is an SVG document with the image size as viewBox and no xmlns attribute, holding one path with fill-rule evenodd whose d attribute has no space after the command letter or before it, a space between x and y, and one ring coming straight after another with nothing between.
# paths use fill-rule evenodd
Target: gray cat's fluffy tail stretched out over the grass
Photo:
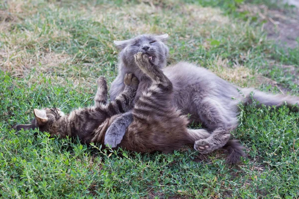
<instances>
[{"instance_id":1,"label":"gray cat's fluffy tail stretched out over the grass","mask_svg":"<svg viewBox=\"0 0 299 199\"><path fill-rule=\"evenodd\" d=\"M265 104L267 106L281 106L283 104L286 104L289 107L292 107L295 104L299 104L299 97L297 96L266 94L252 88L243 88L240 90L240 94L244 95L245 105L251 104L253 100L258 102L257 105ZM296 107L296 110L299 110L298 106Z\"/></svg>"}]
</instances>

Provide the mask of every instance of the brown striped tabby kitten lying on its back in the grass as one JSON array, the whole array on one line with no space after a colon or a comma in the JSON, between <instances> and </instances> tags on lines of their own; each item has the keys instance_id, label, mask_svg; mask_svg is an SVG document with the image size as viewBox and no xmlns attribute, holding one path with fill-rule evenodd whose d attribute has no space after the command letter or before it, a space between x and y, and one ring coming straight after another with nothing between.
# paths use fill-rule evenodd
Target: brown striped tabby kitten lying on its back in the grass
<instances>
[{"instance_id":1,"label":"brown striped tabby kitten lying on its back in the grass","mask_svg":"<svg viewBox=\"0 0 299 199\"><path fill-rule=\"evenodd\" d=\"M149 56L138 53L135 59L140 70L147 74L152 83L136 101L132 110L133 122L118 146L137 152L168 153L208 137L209 133L204 129L187 128L186 116L181 115L170 103L172 83L149 61ZM51 136L79 136L83 143L104 144L109 125L131 105L138 79L132 74L126 74L124 84L125 89L116 100L107 103L106 81L100 78L94 107L76 109L69 115L64 115L57 108L34 109L35 119L32 123L18 125L16 128L39 127L40 131L47 131Z\"/></svg>"}]
</instances>

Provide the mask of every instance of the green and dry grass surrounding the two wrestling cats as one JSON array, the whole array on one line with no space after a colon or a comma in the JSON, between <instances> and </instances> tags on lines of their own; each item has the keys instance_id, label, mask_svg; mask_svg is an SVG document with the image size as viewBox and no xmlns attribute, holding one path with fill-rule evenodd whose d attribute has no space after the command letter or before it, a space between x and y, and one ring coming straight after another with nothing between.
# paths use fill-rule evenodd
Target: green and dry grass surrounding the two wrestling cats
<instances>
[{"instance_id":1,"label":"green and dry grass surrounding the two wrestling cats","mask_svg":"<svg viewBox=\"0 0 299 199\"><path fill-rule=\"evenodd\" d=\"M193 62L239 86L298 95L299 49L268 41L262 20L239 10L249 3L258 2L2 1L0 198L298 198L299 113L285 106L240 107L234 135L249 158L237 166L217 152L100 151L11 129L33 108L91 105L95 80L116 77L113 40L142 33L170 35L169 64Z\"/></svg>"}]
</instances>

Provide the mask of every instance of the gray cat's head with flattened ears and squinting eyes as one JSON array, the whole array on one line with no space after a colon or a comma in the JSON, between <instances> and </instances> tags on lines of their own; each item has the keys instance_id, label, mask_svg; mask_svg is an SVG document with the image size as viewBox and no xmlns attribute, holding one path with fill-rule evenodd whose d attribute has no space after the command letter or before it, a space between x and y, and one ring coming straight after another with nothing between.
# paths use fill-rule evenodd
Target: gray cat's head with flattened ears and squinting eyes
<instances>
[{"instance_id":1,"label":"gray cat's head with flattened ears and squinting eyes","mask_svg":"<svg viewBox=\"0 0 299 199\"><path fill-rule=\"evenodd\" d=\"M138 52L146 53L151 57L151 62L159 67L166 65L168 48L164 44L168 34L163 35L140 35L124 41L114 41L121 49L120 59L127 67L136 67L134 55Z\"/></svg>"}]
</instances>

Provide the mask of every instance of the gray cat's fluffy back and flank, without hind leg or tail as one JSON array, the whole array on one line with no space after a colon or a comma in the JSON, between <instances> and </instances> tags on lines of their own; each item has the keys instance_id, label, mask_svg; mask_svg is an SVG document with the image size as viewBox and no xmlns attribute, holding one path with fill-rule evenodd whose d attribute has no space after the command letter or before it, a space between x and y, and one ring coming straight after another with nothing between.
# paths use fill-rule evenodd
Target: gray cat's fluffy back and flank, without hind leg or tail
<instances>
[{"instance_id":1,"label":"gray cat's fluffy back and flank, without hind leg or tail","mask_svg":"<svg viewBox=\"0 0 299 199\"><path fill-rule=\"evenodd\" d=\"M204 68L180 62L163 72L173 84L173 106L191 114L191 121L201 122L198 107L203 99L217 100L232 110L237 107L238 100L232 100L240 97L236 87Z\"/></svg>"}]
</instances>

